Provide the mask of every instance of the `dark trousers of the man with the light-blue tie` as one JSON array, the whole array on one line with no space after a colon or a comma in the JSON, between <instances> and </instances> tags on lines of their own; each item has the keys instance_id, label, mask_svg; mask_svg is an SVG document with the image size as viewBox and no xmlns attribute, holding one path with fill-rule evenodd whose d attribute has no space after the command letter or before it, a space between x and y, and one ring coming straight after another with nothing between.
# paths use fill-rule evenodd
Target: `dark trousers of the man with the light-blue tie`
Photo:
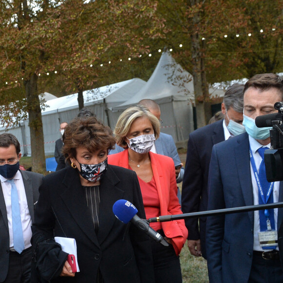
<instances>
[{"instance_id":1,"label":"dark trousers of the man with the light-blue tie","mask_svg":"<svg viewBox=\"0 0 283 283\"><path fill-rule=\"evenodd\" d=\"M3 283L30 283L32 248L21 252L10 251L8 275Z\"/></svg>"}]
</instances>

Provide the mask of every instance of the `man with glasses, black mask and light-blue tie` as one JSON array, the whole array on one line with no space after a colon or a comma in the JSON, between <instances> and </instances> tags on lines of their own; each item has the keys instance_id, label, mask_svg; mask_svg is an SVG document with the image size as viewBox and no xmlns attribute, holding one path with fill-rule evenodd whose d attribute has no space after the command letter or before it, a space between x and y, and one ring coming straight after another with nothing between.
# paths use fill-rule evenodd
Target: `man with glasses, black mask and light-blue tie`
<instances>
[{"instance_id":1,"label":"man with glasses, black mask and light-blue tie","mask_svg":"<svg viewBox=\"0 0 283 283\"><path fill-rule=\"evenodd\" d=\"M21 171L20 143L0 135L0 282L30 282L31 225L42 175Z\"/></svg>"}]
</instances>

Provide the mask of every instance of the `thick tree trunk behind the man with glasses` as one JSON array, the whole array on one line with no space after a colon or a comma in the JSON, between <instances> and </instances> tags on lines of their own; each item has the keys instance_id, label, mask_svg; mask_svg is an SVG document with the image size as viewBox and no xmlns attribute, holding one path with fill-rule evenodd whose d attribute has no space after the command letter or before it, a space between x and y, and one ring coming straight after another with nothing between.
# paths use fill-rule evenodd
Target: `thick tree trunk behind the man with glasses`
<instances>
[{"instance_id":1,"label":"thick tree trunk behind the man with glasses","mask_svg":"<svg viewBox=\"0 0 283 283\"><path fill-rule=\"evenodd\" d=\"M30 79L25 81L25 95L28 104L28 118L30 128L30 143L32 156L32 171L45 173L44 138L41 119L40 100L37 89L38 77L31 74Z\"/></svg>"}]
</instances>

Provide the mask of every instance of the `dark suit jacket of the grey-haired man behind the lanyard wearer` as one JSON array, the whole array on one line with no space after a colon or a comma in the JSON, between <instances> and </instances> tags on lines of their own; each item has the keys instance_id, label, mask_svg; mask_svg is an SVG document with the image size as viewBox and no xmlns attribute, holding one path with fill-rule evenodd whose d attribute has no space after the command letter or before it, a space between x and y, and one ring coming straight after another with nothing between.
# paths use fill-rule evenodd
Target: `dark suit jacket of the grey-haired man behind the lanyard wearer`
<instances>
[{"instance_id":1,"label":"dark suit jacket of the grey-haired man behind the lanyard wearer","mask_svg":"<svg viewBox=\"0 0 283 283\"><path fill-rule=\"evenodd\" d=\"M207 210L208 171L214 144L224 141L223 120L206 125L190 133L185 172L182 184L182 212ZM185 219L189 240L201 239L202 256L206 258L205 226L206 218Z\"/></svg>"}]
</instances>

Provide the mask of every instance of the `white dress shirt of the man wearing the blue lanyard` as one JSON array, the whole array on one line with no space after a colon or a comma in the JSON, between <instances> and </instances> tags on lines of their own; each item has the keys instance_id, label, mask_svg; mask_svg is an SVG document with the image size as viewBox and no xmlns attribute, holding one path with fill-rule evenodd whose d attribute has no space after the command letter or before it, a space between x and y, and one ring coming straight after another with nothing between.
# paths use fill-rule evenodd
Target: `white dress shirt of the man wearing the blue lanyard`
<instances>
[{"instance_id":1,"label":"white dress shirt of the man wearing the blue lanyard","mask_svg":"<svg viewBox=\"0 0 283 283\"><path fill-rule=\"evenodd\" d=\"M252 151L252 155L257 167L257 171L259 172L259 168L262 162L262 158L260 154L257 152L257 150L260 147L268 147L270 148L270 143L267 145L262 145L259 142L257 142L254 138L249 136L249 143L250 148ZM259 204L259 187L256 182L256 178L254 175L254 171L250 162L250 169L251 169L251 177L252 177L252 185L253 185L253 197L254 197L254 205ZM273 202L278 202L279 200L279 182L274 182L273 185ZM274 222L275 222L275 230L277 230L277 215L278 215L278 208L274 208ZM259 211L256 210L254 212L254 250L255 251L263 251L263 248L260 245L259 240L259 232L260 232L260 214ZM278 249L278 247L277 247ZM264 249L264 251L268 251L267 249Z\"/></svg>"}]
</instances>

